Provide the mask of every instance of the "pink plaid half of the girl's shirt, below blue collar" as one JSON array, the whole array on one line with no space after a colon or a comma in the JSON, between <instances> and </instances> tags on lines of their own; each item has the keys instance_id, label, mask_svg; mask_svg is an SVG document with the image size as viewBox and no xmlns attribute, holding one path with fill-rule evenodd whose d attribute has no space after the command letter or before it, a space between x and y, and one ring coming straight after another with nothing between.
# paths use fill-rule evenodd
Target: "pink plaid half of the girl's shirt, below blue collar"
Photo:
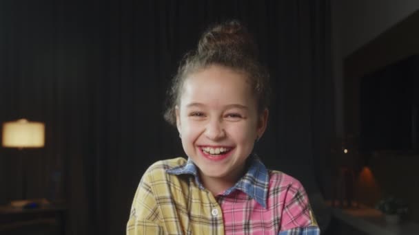
<instances>
[{"instance_id":1,"label":"pink plaid half of the girl's shirt, below blue collar","mask_svg":"<svg viewBox=\"0 0 419 235\"><path fill-rule=\"evenodd\" d=\"M269 173L267 208L240 190L218 198L225 234L277 235L292 227L316 225L300 182L282 172Z\"/></svg>"}]
</instances>

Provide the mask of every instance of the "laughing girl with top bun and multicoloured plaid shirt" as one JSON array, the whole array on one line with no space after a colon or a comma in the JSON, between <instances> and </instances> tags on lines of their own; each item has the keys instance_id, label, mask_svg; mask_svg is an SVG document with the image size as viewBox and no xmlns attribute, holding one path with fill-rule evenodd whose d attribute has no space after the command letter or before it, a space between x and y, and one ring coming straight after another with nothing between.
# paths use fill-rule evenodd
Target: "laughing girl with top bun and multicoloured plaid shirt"
<instances>
[{"instance_id":1,"label":"laughing girl with top bun and multicoloured plaid shirt","mask_svg":"<svg viewBox=\"0 0 419 235\"><path fill-rule=\"evenodd\" d=\"M245 27L229 21L185 56L165 119L188 159L147 169L127 234L320 234L300 182L252 153L268 119L269 76L257 54Z\"/></svg>"}]
</instances>

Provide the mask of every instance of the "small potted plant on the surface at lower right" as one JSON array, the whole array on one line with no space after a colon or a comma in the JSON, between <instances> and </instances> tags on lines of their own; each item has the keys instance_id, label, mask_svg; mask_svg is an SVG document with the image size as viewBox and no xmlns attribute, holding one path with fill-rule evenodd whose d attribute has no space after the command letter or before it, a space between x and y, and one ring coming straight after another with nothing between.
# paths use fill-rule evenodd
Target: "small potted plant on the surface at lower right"
<instances>
[{"instance_id":1,"label":"small potted plant on the surface at lower right","mask_svg":"<svg viewBox=\"0 0 419 235\"><path fill-rule=\"evenodd\" d=\"M407 205L401 199L387 197L377 203L376 208L385 215L385 220L389 224L397 224L400 216L407 213Z\"/></svg>"}]
</instances>

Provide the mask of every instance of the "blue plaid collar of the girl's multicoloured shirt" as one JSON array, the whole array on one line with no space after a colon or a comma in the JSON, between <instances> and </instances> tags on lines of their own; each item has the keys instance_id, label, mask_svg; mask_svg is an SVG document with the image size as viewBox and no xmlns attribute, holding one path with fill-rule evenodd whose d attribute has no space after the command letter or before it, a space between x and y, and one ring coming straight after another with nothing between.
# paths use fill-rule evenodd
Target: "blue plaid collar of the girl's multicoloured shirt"
<instances>
[{"instance_id":1,"label":"blue plaid collar of the girl's multicoloured shirt","mask_svg":"<svg viewBox=\"0 0 419 235\"><path fill-rule=\"evenodd\" d=\"M241 190L249 195L249 197L252 197L252 199L255 199L263 208L266 208L269 173L265 165L263 165L262 161L256 155L249 157L248 161L249 166L246 174L232 188L225 190L222 195L228 195L234 190ZM187 159L184 165L167 169L166 172L173 175L194 175L198 187L204 189L198 177L198 168L191 159Z\"/></svg>"}]
</instances>

